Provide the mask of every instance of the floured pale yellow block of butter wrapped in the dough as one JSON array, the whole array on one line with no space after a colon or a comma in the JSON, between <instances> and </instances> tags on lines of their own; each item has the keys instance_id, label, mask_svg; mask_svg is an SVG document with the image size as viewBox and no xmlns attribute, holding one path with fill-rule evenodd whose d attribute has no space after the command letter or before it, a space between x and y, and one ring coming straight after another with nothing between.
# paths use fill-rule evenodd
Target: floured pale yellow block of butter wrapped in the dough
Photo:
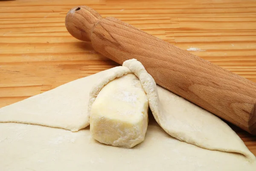
<instances>
[{"instance_id":1,"label":"floured pale yellow block of butter wrapped in the dough","mask_svg":"<svg viewBox=\"0 0 256 171\"><path fill-rule=\"evenodd\" d=\"M132 148L142 142L148 127L148 99L134 74L106 84L92 104L90 132L104 144Z\"/></svg>"}]
</instances>

